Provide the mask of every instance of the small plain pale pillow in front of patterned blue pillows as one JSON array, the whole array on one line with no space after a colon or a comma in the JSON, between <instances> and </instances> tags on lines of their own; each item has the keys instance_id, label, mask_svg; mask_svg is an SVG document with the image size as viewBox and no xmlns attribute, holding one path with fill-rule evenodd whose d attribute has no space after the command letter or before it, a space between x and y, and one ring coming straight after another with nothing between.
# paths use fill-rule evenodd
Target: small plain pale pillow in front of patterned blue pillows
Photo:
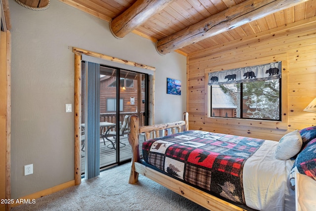
<instances>
[{"instance_id":1,"label":"small plain pale pillow in front of patterned blue pillows","mask_svg":"<svg viewBox=\"0 0 316 211\"><path fill-rule=\"evenodd\" d=\"M276 147L275 158L278 160L288 160L295 156L302 147L303 140L299 130L294 130L285 134Z\"/></svg>"}]
</instances>

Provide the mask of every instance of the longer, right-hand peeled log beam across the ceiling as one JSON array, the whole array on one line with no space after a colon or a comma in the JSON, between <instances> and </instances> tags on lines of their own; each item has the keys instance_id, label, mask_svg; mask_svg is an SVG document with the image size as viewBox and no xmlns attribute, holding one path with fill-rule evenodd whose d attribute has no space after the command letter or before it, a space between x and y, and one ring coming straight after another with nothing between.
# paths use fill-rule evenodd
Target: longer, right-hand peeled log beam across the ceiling
<instances>
[{"instance_id":1,"label":"longer, right-hand peeled log beam across the ceiling","mask_svg":"<svg viewBox=\"0 0 316 211\"><path fill-rule=\"evenodd\" d=\"M306 0L246 0L159 40L156 49L164 55L304 1Z\"/></svg>"}]
</instances>

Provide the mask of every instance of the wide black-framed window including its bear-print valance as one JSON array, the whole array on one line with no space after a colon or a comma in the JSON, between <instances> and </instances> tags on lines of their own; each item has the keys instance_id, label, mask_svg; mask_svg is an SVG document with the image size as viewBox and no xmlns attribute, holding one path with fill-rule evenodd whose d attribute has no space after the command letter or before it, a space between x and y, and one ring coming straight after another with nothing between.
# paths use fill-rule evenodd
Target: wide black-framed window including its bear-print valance
<instances>
[{"instance_id":1,"label":"wide black-framed window including its bear-print valance","mask_svg":"<svg viewBox=\"0 0 316 211\"><path fill-rule=\"evenodd\" d=\"M281 62L209 74L210 116L281 121Z\"/></svg>"}]
</instances>

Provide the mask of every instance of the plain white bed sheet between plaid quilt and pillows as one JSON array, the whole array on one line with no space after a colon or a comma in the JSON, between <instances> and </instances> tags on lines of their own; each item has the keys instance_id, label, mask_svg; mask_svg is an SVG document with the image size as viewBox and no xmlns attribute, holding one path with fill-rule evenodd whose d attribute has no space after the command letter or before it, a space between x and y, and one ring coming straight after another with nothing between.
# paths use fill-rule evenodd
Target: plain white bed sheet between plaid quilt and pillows
<instances>
[{"instance_id":1,"label":"plain white bed sheet between plaid quilt and pillows","mask_svg":"<svg viewBox=\"0 0 316 211\"><path fill-rule=\"evenodd\" d=\"M295 194L289 189L291 160L277 160L278 142L266 140L244 164L243 189L246 205L260 211L295 210ZM286 205L285 203L286 202Z\"/></svg>"}]
</instances>

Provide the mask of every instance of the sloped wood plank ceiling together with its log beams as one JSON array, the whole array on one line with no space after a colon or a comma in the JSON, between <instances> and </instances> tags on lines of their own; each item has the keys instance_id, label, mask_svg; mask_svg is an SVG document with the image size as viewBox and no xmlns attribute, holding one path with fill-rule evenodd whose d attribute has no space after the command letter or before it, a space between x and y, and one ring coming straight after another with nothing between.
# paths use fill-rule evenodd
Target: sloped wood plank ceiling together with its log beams
<instances>
[{"instance_id":1,"label":"sloped wood plank ceiling together with its log beams","mask_svg":"<svg viewBox=\"0 0 316 211\"><path fill-rule=\"evenodd\" d=\"M108 21L118 39L132 32L156 42L160 54L187 55L316 16L316 0L60 1Z\"/></svg>"}]
</instances>

